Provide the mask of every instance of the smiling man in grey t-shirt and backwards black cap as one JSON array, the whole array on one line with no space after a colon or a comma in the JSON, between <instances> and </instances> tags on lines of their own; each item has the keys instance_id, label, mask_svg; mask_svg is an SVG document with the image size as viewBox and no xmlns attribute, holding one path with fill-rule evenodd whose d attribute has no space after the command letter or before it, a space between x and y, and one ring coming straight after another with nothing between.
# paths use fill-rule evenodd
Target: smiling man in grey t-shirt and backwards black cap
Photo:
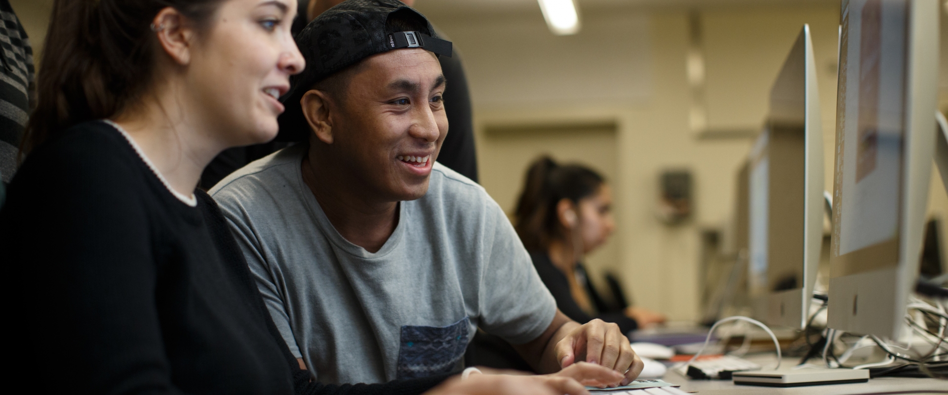
<instances>
[{"instance_id":1,"label":"smiling man in grey t-shirt and backwards black cap","mask_svg":"<svg viewBox=\"0 0 948 395\"><path fill-rule=\"evenodd\" d=\"M615 324L571 321L501 207L435 160L451 56L396 0L348 0L297 37L306 69L283 102L299 144L210 193L228 217L290 350L323 383L462 368L478 327L535 369L641 360Z\"/></svg>"}]
</instances>

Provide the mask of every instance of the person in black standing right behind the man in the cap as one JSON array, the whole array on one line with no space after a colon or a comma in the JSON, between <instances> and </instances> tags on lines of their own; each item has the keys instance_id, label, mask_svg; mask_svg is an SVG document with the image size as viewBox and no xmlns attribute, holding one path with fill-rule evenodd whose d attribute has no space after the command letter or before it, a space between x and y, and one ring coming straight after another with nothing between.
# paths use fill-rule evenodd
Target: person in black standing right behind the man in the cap
<instances>
[{"instance_id":1,"label":"person in black standing right behind the man in the cap","mask_svg":"<svg viewBox=\"0 0 948 395\"><path fill-rule=\"evenodd\" d=\"M330 9L343 0L301 0L296 20L293 21L293 35L296 36L309 21L315 19L326 9ZM414 6L414 0L403 1L409 7ZM438 37L450 41L441 29L434 27ZM467 78L458 47L454 45L454 54L439 57L442 72L447 79L445 91L445 108L447 109L447 123L449 132L442 143L441 152L437 161L442 165L460 172L474 182L478 182L477 154L474 149L474 124L471 119L471 99L467 90ZM246 164L260 159L270 153L275 153L297 141L304 141L305 136L281 133L274 141L247 147L232 148L218 155L201 176L201 187L210 189L218 181L224 179L231 172L240 169Z\"/></svg>"}]
</instances>

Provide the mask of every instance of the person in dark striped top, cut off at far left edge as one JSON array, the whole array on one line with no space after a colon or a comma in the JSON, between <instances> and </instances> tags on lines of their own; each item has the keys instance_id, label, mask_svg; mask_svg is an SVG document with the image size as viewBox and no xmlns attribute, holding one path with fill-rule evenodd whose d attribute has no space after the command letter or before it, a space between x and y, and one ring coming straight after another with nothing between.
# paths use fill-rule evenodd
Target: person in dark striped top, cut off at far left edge
<instances>
[{"instance_id":1,"label":"person in dark striped top, cut off at far left edge","mask_svg":"<svg viewBox=\"0 0 948 395\"><path fill-rule=\"evenodd\" d=\"M3 206L4 187L13 179L17 168L17 152L29 111L33 108L35 86L33 79L33 48L27 31L20 25L8 0L0 0L0 42L3 54L0 63L0 206Z\"/></svg>"}]
</instances>

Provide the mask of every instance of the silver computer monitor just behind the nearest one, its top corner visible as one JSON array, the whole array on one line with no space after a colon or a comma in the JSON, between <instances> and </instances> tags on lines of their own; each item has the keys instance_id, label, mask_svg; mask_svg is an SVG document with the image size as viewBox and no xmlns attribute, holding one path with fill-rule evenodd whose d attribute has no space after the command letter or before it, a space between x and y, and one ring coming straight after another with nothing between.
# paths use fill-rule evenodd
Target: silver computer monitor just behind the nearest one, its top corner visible
<instances>
[{"instance_id":1,"label":"silver computer monitor just behind the nearest one, its top corner visible","mask_svg":"<svg viewBox=\"0 0 948 395\"><path fill-rule=\"evenodd\" d=\"M823 232L823 132L810 27L777 75L750 155L748 287L754 315L806 326Z\"/></svg>"}]
</instances>

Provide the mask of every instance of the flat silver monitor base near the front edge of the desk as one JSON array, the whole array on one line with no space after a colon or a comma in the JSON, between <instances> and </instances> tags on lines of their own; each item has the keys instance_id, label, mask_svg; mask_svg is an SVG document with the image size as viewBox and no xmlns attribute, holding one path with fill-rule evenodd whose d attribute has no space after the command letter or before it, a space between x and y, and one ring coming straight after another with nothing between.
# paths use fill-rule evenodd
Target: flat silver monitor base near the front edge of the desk
<instances>
[{"instance_id":1,"label":"flat silver monitor base near the front edge of the desk","mask_svg":"<svg viewBox=\"0 0 948 395\"><path fill-rule=\"evenodd\" d=\"M866 383L868 369L800 368L793 370L736 371L734 384L741 386L828 386Z\"/></svg>"}]
</instances>

